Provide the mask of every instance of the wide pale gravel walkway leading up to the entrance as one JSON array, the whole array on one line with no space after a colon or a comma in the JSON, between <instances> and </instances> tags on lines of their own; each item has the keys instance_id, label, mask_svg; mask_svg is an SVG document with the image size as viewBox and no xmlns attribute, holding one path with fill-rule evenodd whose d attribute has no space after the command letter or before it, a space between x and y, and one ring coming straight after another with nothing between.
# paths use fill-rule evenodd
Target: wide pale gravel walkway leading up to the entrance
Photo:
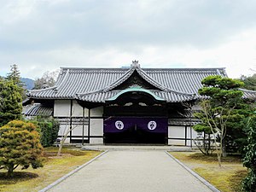
<instances>
[{"instance_id":1,"label":"wide pale gravel walkway leading up to the entrance","mask_svg":"<svg viewBox=\"0 0 256 192\"><path fill-rule=\"evenodd\" d=\"M208 192L165 151L108 151L49 191Z\"/></svg>"}]
</instances>

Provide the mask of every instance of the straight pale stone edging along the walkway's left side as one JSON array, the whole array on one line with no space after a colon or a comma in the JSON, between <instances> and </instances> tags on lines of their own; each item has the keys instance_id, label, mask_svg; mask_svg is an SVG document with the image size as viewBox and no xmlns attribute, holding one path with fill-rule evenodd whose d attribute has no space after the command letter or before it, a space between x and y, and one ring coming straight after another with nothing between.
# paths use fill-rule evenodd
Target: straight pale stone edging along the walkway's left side
<instances>
[{"instance_id":1,"label":"straight pale stone edging along the walkway's left side","mask_svg":"<svg viewBox=\"0 0 256 192\"><path fill-rule=\"evenodd\" d=\"M58 183L61 183L63 180L65 180L67 177L72 176L75 172L79 172L80 169L84 168L84 166L88 166L92 161L98 159L99 157L101 157L103 154L106 154L108 152L108 150L102 152L102 154L98 154L95 158L87 161L86 163L84 163L82 166L77 167L76 169L74 169L72 172L68 172L66 175L64 175L63 177L59 178L58 180L56 180L54 183L50 183L47 187L45 187L44 189L39 190L38 192L45 192L51 188L53 188L55 185L57 185Z\"/></svg>"}]
</instances>

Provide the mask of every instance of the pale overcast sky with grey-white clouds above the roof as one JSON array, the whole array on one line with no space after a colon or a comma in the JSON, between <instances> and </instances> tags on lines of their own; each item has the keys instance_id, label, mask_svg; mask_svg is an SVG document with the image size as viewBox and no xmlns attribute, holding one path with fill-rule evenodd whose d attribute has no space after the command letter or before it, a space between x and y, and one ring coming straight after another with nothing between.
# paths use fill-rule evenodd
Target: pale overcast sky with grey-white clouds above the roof
<instances>
[{"instance_id":1,"label":"pale overcast sky with grey-white clouds above the roof","mask_svg":"<svg viewBox=\"0 0 256 192\"><path fill-rule=\"evenodd\" d=\"M255 0L0 0L0 75L60 67L256 70Z\"/></svg>"}]
</instances>

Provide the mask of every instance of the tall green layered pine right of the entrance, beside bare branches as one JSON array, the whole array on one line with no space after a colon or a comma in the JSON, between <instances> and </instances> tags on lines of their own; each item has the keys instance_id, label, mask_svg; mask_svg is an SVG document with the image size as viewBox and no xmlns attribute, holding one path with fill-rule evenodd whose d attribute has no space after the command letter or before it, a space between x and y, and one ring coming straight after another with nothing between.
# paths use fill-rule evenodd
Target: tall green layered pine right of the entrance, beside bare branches
<instances>
[{"instance_id":1,"label":"tall green layered pine right of the entrance, beside bare branches","mask_svg":"<svg viewBox=\"0 0 256 192\"><path fill-rule=\"evenodd\" d=\"M247 111L247 105L242 101L242 92L238 90L243 83L221 76L209 76L201 83L203 87L198 92L201 96L207 96L207 99L201 101L201 113L195 113L195 116L201 119L201 124L195 125L195 130L211 130L215 143L218 134L220 147L217 154L218 164L221 166L221 156L226 155L225 136L235 125L240 127L239 122Z\"/></svg>"}]
</instances>

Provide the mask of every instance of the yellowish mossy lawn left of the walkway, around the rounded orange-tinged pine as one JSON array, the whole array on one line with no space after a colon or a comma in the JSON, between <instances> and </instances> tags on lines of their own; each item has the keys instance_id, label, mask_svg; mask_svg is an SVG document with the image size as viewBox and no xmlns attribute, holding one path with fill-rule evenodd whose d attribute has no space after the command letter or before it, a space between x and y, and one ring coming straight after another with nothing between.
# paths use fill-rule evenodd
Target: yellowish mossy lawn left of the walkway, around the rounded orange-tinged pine
<instances>
[{"instance_id":1,"label":"yellowish mossy lawn left of the walkway, around the rounded orange-tinged pine","mask_svg":"<svg viewBox=\"0 0 256 192\"><path fill-rule=\"evenodd\" d=\"M44 167L21 170L18 167L12 178L6 178L3 170L0 172L0 191L38 191L78 166L93 159L100 151L82 151L78 148L63 148L62 155L57 157L58 148L44 148Z\"/></svg>"}]
</instances>

